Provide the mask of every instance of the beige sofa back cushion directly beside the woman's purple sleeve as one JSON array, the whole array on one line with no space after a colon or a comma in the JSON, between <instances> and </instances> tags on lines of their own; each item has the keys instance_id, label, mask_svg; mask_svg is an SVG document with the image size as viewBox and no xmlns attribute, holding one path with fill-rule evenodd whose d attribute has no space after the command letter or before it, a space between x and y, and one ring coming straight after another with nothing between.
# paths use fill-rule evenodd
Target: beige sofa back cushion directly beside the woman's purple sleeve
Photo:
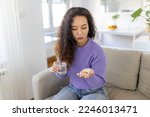
<instances>
[{"instance_id":1,"label":"beige sofa back cushion directly beside the woman's purple sleeve","mask_svg":"<svg viewBox=\"0 0 150 117\"><path fill-rule=\"evenodd\" d=\"M106 83L115 87L135 90L137 87L141 52L103 47L106 55Z\"/></svg>"}]
</instances>

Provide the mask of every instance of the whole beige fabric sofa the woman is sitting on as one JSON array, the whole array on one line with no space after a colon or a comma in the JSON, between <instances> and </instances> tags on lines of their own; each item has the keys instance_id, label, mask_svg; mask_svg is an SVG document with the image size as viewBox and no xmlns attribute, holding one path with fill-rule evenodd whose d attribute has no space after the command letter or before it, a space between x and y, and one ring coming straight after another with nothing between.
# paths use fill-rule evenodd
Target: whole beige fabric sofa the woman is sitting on
<instances>
[{"instance_id":1,"label":"whole beige fabric sofa the woman is sitting on","mask_svg":"<svg viewBox=\"0 0 150 117\"><path fill-rule=\"evenodd\" d=\"M106 90L110 100L150 99L150 53L104 47ZM51 99L69 79L58 79L49 69L32 78L34 99Z\"/></svg>"}]
</instances>

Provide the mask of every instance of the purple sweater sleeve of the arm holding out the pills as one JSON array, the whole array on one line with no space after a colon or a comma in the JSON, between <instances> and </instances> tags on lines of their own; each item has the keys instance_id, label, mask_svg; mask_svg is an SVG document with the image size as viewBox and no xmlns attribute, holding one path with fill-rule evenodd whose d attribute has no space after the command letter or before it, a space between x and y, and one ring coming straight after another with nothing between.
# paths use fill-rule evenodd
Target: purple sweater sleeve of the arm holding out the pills
<instances>
[{"instance_id":1,"label":"purple sweater sleeve of the arm holding out the pills","mask_svg":"<svg viewBox=\"0 0 150 117\"><path fill-rule=\"evenodd\" d=\"M95 72L95 75L85 80L93 88L100 88L104 86L106 60L102 49L94 54L90 64L91 64L91 69L93 69Z\"/></svg>"}]
</instances>

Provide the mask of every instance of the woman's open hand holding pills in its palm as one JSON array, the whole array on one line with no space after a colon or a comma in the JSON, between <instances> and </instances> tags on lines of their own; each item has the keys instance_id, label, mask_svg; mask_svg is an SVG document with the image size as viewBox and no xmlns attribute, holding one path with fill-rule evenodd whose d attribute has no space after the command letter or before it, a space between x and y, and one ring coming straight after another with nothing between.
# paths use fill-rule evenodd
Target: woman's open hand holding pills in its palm
<instances>
[{"instance_id":1,"label":"woman's open hand holding pills in its palm","mask_svg":"<svg viewBox=\"0 0 150 117\"><path fill-rule=\"evenodd\" d=\"M80 78L89 78L93 76L94 74L95 72L93 71L93 69L86 68L86 69L81 70L80 73L77 73L77 76L79 76Z\"/></svg>"}]
</instances>

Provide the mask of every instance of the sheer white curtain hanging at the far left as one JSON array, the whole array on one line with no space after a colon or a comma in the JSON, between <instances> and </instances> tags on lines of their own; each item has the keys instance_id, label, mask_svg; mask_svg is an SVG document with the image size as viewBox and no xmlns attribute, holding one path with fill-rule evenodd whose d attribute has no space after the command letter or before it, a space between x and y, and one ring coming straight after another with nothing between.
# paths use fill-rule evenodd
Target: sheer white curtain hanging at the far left
<instances>
[{"instance_id":1,"label":"sheer white curtain hanging at the far left","mask_svg":"<svg viewBox=\"0 0 150 117\"><path fill-rule=\"evenodd\" d=\"M17 0L0 0L0 99L25 99L25 78Z\"/></svg>"}]
</instances>

